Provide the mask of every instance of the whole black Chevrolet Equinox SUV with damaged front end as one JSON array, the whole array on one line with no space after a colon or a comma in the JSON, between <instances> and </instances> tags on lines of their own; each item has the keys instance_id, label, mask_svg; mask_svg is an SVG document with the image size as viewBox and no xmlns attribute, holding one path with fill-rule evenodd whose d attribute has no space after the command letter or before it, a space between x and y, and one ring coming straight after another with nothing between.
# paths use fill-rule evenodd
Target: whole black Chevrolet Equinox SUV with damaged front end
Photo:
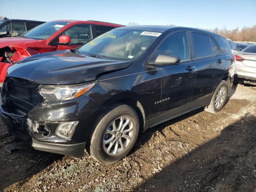
<instances>
[{"instance_id":1,"label":"whole black Chevrolet Equinox SUV with damaged front end","mask_svg":"<svg viewBox=\"0 0 256 192\"><path fill-rule=\"evenodd\" d=\"M77 50L8 68L0 116L38 150L123 158L139 132L197 108L219 112L234 78L226 38L204 30L130 26ZM26 124L27 122L27 124Z\"/></svg>"}]
</instances>

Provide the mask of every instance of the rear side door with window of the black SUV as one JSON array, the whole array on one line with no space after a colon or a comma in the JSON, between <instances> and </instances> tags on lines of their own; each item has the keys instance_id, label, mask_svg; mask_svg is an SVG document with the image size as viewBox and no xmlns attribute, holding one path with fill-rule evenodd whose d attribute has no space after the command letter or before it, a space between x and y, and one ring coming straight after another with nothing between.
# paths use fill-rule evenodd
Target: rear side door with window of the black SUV
<instances>
[{"instance_id":1,"label":"rear side door with window of the black SUV","mask_svg":"<svg viewBox=\"0 0 256 192\"><path fill-rule=\"evenodd\" d=\"M191 32L191 36L197 69L192 101L201 100L200 104L204 106L209 104L211 93L225 74L225 57L208 34Z\"/></svg>"}]
</instances>

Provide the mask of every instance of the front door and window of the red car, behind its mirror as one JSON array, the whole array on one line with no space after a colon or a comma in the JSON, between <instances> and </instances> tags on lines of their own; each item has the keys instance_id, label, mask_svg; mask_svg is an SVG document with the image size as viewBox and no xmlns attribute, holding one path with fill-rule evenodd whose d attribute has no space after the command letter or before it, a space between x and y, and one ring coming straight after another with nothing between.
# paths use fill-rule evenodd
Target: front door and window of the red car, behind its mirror
<instances>
[{"instance_id":1,"label":"front door and window of the red car, behind its mirror","mask_svg":"<svg viewBox=\"0 0 256 192\"><path fill-rule=\"evenodd\" d=\"M58 50L66 50L66 49L72 49L79 46L82 46L86 42L90 41L92 37L92 26L89 25L76 25L72 26L71 28L68 28L65 30L61 35L66 35L70 37L71 42L69 44L58 44ZM58 36L58 37L59 37ZM58 41L57 37L57 41Z\"/></svg>"}]
</instances>

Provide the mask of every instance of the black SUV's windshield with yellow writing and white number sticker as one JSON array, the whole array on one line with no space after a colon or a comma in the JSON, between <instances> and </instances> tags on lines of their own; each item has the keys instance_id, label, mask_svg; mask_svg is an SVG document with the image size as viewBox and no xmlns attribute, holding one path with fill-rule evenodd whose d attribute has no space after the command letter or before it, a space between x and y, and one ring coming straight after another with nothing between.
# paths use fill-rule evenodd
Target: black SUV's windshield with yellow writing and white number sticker
<instances>
[{"instance_id":1,"label":"black SUV's windshield with yellow writing and white number sticker","mask_svg":"<svg viewBox=\"0 0 256 192\"><path fill-rule=\"evenodd\" d=\"M160 32L135 29L115 29L84 44L78 52L83 55L132 60L140 56Z\"/></svg>"}]
</instances>

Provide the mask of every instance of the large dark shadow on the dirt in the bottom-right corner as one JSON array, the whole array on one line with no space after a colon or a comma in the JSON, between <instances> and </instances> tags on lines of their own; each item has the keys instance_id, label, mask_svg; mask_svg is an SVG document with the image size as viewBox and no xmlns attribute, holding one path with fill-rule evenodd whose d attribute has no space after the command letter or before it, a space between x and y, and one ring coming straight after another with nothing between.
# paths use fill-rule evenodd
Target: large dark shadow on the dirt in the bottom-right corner
<instances>
[{"instance_id":1,"label":"large dark shadow on the dirt in the bottom-right corner","mask_svg":"<svg viewBox=\"0 0 256 192\"><path fill-rule=\"evenodd\" d=\"M135 191L255 192L255 129L256 117L246 114L224 128L220 136L171 162Z\"/></svg>"}]
</instances>

